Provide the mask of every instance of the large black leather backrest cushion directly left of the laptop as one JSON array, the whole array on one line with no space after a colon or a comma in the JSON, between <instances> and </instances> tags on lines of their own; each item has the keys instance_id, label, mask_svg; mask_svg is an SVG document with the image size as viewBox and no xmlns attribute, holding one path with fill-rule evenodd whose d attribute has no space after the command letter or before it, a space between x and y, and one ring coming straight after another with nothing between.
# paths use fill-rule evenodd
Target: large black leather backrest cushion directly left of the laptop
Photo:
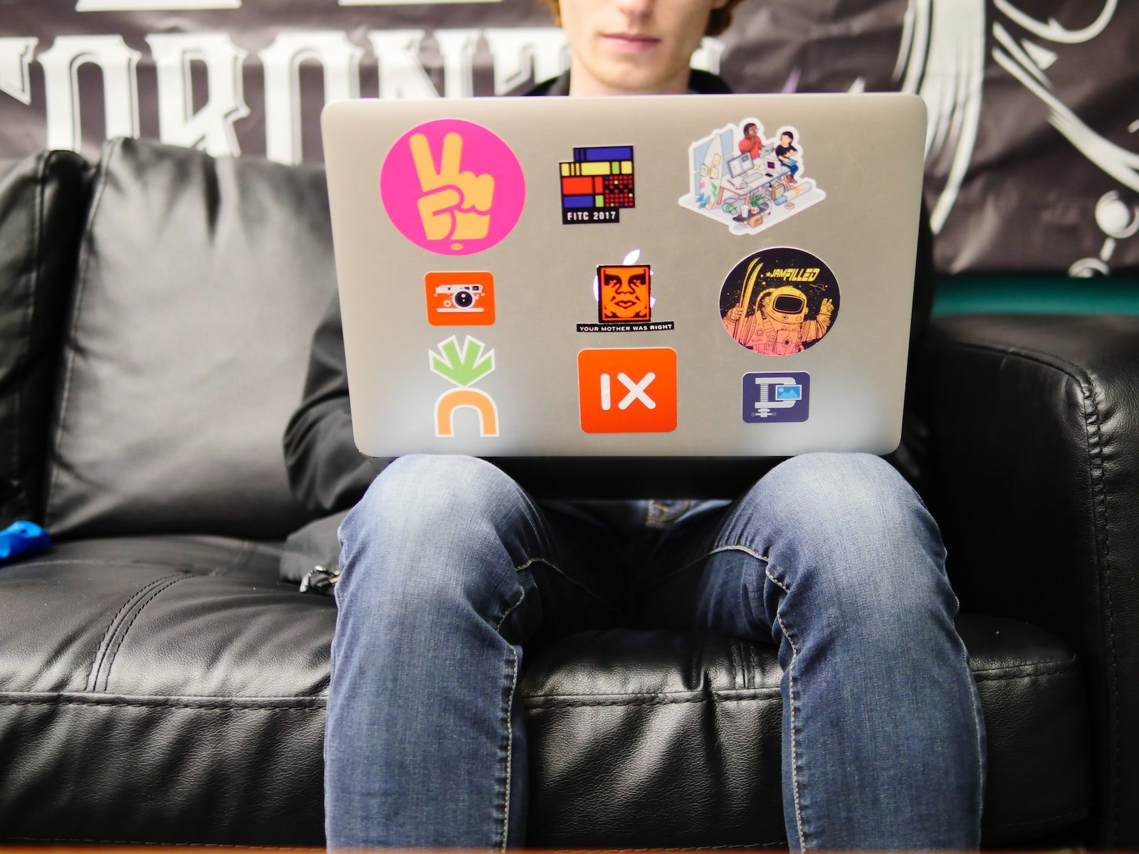
<instances>
[{"instance_id":1,"label":"large black leather backrest cushion directly left of the laptop","mask_svg":"<svg viewBox=\"0 0 1139 854\"><path fill-rule=\"evenodd\" d=\"M336 281L323 172L115 140L93 181L49 529L284 536L308 517L281 434Z\"/></svg>"}]
</instances>

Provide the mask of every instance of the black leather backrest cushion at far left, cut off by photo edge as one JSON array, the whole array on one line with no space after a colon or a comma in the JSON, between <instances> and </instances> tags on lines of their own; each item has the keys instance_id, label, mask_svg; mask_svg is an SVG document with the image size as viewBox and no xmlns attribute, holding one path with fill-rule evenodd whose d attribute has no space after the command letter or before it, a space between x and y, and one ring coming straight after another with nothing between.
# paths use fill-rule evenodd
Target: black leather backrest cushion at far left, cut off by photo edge
<instances>
[{"instance_id":1,"label":"black leather backrest cushion at far left, cut off by photo edge","mask_svg":"<svg viewBox=\"0 0 1139 854\"><path fill-rule=\"evenodd\" d=\"M69 151L0 162L0 527L41 519L51 386L89 174Z\"/></svg>"}]
</instances>

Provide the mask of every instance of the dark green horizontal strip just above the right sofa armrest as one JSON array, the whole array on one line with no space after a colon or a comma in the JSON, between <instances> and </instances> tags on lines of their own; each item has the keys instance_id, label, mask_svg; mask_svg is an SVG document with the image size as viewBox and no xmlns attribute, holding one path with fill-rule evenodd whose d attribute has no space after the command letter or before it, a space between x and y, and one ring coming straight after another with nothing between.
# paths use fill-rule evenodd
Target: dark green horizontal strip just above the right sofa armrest
<instances>
[{"instance_id":1,"label":"dark green horizontal strip just above the right sofa armrest","mask_svg":"<svg viewBox=\"0 0 1139 854\"><path fill-rule=\"evenodd\" d=\"M935 317L997 314L1139 314L1139 274L1093 279L1046 276L943 276Z\"/></svg>"}]
</instances>

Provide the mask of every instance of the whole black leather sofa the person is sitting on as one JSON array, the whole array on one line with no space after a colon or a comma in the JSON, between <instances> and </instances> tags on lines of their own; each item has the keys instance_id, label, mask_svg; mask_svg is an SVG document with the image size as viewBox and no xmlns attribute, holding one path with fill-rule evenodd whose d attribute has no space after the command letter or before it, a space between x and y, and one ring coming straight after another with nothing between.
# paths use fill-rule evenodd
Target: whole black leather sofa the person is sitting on
<instances>
[{"instance_id":1,"label":"whole black leather sofa the person is sitting on","mask_svg":"<svg viewBox=\"0 0 1139 854\"><path fill-rule=\"evenodd\" d=\"M0 841L322 844L335 607L278 580L280 437L334 287L319 170L0 164L0 522L57 543L0 566ZM943 320L915 371L984 843L1139 847L1139 322ZM530 844L785 844L778 679L696 633L532 655Z\"/></svg>"}]
</instances>

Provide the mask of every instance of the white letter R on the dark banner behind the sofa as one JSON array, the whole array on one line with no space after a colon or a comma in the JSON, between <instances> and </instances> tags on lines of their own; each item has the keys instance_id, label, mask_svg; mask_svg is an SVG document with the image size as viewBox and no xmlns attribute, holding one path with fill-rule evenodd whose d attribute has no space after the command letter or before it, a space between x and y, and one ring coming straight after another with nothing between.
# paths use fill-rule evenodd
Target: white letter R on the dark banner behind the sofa
<instances>
[{"instance_id":1,"label":"white letter R on the dark banner behind the sofa","mask_svg":"<svg viewBox=\"0 0 1139 854\"><path fill-rule=\"evenodd\" d=\"M200 148L215 157L238 155L233 122L249 115L241 92L246 52L224 33L164 33L146 36L158 75L158 138ZM194 113L190 63L206 66L208 97Z\"/></svg>"}]
</instances>

